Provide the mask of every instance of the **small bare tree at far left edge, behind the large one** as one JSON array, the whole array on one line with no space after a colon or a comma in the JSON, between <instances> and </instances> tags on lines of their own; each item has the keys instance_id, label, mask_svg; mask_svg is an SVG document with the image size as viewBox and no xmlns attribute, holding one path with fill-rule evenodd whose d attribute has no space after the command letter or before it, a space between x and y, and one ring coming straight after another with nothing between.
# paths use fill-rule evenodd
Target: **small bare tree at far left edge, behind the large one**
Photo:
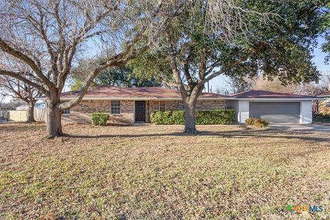
<instances>
[{"instance_id":1,"label":"small bare tree at far left edge, behind the large one","mask_svg":"<svg viewBox=\"0 0 330 220\"><path fill-rule=\"evenodd\" d=\"M28 122L35 122L34 104L36 104L36 98L42 95L40 91L16 78L0 76L0 94L28 104Z\"/></svg>"}]
</instances>

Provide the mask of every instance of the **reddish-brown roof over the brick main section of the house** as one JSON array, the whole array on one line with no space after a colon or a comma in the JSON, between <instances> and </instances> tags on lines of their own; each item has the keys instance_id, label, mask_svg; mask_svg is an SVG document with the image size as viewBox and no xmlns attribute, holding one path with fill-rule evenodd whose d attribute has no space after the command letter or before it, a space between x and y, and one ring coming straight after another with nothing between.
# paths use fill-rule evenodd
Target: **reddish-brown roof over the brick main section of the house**
<instances>
[{"instance_id":1,"label":"reddish-brown roof over the brick main section of the house","mask_svg":"<svg viewBox=\"0 0 330 220\"><path fill-rule=\"evenodd\" d=\"M68 91L61 94L61 99L76 98L79 91ZM174 89L163 87L136 87L122 88L113 86L100 86L88 89L84 99L180 99L181 94ZM229 98L221 94L202 93L199 99L223 99Z\"/></svg>"}]
</instances>

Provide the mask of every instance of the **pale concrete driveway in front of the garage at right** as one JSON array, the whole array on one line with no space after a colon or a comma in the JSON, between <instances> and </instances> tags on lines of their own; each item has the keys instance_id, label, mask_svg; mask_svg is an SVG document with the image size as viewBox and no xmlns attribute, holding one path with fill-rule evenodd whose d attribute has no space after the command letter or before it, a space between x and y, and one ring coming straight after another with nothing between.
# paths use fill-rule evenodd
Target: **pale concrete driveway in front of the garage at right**
<instances>
[{"instance_id":1,"label":"pale concrete driveway in front of the garage at right","mask_svg":"<svg viewBox=\"0 0 330 220\"><path fill-rule=\"evenodd\" d=\"M330 133L330 126L324 124L270 124L270 128L296 132Z\"/></svg>"}]
</instances>

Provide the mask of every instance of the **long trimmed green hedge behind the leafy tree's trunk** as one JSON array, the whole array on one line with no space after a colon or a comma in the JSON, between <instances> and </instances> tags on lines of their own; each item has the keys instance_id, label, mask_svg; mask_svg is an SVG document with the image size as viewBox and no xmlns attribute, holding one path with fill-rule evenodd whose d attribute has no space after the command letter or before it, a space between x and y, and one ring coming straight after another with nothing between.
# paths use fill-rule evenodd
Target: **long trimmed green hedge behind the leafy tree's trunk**
<instances>
[{"instance_id":1,"label":"long trimmed green hedge behind the leafy tree's trunk","mask_svg":"<svg viewBox=\"0 0 330 220\"><path fill-rule=\"evenodd\" d=\"M234 110L197 110L196 124L231 124ZM151 114L153 124L184 124L184 111L155 111Z\"/></svg>"}]
</instances>

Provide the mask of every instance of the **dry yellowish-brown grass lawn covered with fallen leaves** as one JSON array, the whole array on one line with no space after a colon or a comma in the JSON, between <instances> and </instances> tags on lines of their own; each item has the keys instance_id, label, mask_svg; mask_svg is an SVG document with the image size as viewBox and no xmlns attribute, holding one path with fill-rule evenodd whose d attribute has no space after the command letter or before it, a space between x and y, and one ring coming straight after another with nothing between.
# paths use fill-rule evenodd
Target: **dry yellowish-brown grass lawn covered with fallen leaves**
<instances>
[{"instance_id":1,"label":"dry yellowish-brown grass lawn covered with fallen leaves","mask_svg":"<svg viewBox=\"0 0 330 220\"><path fill-rule=\"evenodd\" d=\"M329 134L182 129L0 124L0 219L330 219Z\"/></svg>"}]
</instances>

